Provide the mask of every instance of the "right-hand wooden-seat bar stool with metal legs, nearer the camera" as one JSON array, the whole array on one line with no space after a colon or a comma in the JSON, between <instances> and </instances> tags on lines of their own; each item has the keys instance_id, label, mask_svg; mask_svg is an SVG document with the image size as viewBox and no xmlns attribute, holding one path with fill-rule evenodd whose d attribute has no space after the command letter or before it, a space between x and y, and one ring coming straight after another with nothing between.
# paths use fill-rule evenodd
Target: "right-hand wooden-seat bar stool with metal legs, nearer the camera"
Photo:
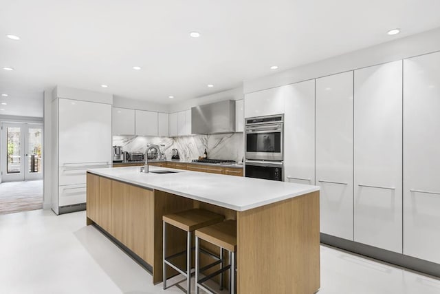
<instances>
[{"instance_id":1,"label":"right-hand wooden-seat bar stool with metal legs, nearer the camera","mask_svg":"<svg viewBox=\"0 0 440 294\"><path fill-rule=\"evenodd\" d=\"M200 273L206 269L200 269L199 264L199 252L200 252L200 240L205 240L216 246L220 247L220 255L223 259L223 249L229 252L229 262L228 266L223 266L221 262L221 269L206 275L205 277L199 279ZM220 280L220 290L223 288L223 273L225 271L230 271L230 286L229 292L231 294L235 293L236 289L236 278L235 278L235 252L236 252L236 221L226 220L225 222L219 222L217 224L212 224L209 227L203 227L195 231L195 293L199 294L199 289L215 294L212 288L204 285L203 283L210 280L216 275L221 275Z\"/></svg>"}]
</instances>

